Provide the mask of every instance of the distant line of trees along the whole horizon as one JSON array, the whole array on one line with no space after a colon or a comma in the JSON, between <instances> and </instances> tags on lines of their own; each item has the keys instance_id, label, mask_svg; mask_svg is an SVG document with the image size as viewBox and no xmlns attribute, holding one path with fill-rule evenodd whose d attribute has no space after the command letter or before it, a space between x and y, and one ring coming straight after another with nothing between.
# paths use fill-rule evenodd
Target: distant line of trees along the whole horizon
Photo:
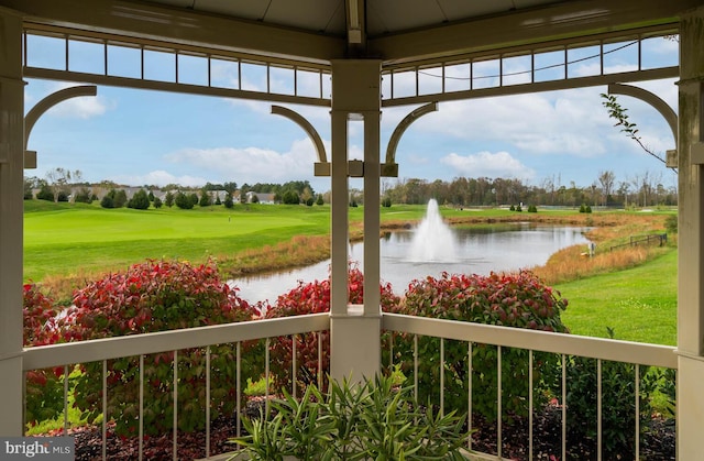
<instances>
[{"instance_id":1,"label":"distant line of trees along the whole horizon","mask_svg":"<svg viewBox=\"0 0 704 461\"><path fill-rule=\"evenodd\" d=\"M55 168L46 178L25 177L25 198L51 201L100 201L105 208L144 209L150 204L158 208L177 206L189 209L195 206L224 205L231 208L235 202L256 202L258 195L268 194L274 202L287 205L322 205L330 201L329 193L316 194L308 180L294 180L284 184L246 183L238 187L234 182L222 184L207 183L199 188L168 184L164 187L144 185L128 197L128 186L103 180L98 184L80 182L79 171L70 172ZM134 189L134 188L132 188ZM165 191L165 195L164 195ZM573 180L562 184L560 176L551 176L539 185L529 185L517 178L457 177L450 182L410 178L386 179L382 184L382 204L426 204L435 198L440 204L464 206L561 206L580 207L582 205L602 207L651 207L674 206L678 191L674 186L663 185L662 173L645 172L617 180L612 171L601 171L588 186L578 186ZM350 189L351 206L363 205L363 191Z\"/></svg>"}]
</instances>

